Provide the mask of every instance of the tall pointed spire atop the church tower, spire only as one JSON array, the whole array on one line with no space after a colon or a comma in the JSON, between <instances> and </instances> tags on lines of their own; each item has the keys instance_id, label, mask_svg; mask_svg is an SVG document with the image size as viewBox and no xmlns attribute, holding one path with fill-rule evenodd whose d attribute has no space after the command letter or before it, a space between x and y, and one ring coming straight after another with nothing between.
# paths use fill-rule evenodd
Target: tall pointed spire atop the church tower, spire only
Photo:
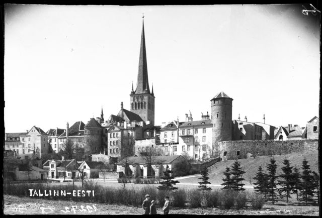
<instances>
[{"instance_id":1,"label":"tall pointed spire atop the church tower, spire only","mask_svg":"<svg viewBox=\"0 0 322 218\"><path fill-rule=\"evenodd\" d=\"M150 93L148 77L147 77L147 64L146 64L146 51L145 51L145 36L144 36L144 21L142 20L142 34L140 46L139 69L137 73L137 82L135 93L144 93L147 90Z\"/></svg>"}]
</instances>

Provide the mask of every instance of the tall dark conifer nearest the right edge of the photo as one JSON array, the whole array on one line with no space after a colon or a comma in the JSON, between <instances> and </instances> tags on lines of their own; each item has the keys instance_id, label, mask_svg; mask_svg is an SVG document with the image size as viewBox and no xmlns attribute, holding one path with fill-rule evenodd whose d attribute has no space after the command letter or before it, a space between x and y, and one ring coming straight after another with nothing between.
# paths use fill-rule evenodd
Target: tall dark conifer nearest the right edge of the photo
<instances>
[{"instance_id":1,"label":"tall dark conifer nearest the right edge of the photo","mask_svg":"<svg viewBox=\"0 0 322 218\"><path fill-rule=\"evenodd\" d=\"M307 164L308 161L303 160L302 162L302 175L301 175L301 192L300 196L302 200L305 201L307 205L307 201L312 201L312 196L314 196L314 182L313 176L311 175L310 165Z\"/></svg>"}]
</instances>

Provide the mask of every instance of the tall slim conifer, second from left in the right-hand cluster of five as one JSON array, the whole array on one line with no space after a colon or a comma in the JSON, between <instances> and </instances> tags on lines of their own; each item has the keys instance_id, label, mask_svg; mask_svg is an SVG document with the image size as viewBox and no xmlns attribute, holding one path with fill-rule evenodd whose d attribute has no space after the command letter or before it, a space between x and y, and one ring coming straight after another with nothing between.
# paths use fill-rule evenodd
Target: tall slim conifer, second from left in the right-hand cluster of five
<instances>
[{"instance_id":1,"label":"tall slim conifer, second from left in the right-hand cluster of five","mask_svg":"<svg viewBox=\"0 0 322 218\"><path fill-rule=\"evenodd\" d=\"M268 171L267 174L267 195L268 197L272 197L272 203L274 204L274 202L277 202L277 200L275 200L277 198L277 178L278 176L276 176L276 169L277 169L277 165L275 164L275 159L274 157L271 158L270 163L267 164L266 168Z\"/></svg>"}]
</instances>

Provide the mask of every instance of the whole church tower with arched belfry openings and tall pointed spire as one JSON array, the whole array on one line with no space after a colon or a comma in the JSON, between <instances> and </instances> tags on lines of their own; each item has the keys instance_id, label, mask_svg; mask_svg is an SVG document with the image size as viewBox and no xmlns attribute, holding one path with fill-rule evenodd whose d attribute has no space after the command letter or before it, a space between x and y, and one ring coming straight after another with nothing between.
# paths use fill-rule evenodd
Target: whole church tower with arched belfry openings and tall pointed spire
<instances>
[{"instance_id":1,"label":"whole church tower with arched belfry openings and tall pointed spire","mask_svg":"<svg viewBox=\"0 0 322 218\"><path fill-rule=\"evenodd\" d=\"M130 94L131 112L139 115L145 124L154 125L154 93L153 85L150 92L149 81L147 77L144 21L142 21L141 46L139 57L139 69L137 73L136 89Z\"/></svg>"}]
</instances>

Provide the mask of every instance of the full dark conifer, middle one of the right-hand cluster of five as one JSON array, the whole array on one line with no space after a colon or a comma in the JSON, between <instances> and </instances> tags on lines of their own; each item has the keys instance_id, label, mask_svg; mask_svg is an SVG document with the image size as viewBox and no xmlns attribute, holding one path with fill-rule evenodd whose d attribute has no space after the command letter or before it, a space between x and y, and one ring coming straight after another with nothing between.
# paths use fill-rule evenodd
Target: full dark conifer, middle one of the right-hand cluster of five
<instances>
[{"instance_id":1,"label":"full dark conifer, middle one of the right-hand cluster of five","mask_svg":"<svg viewBox=\"0 0 322 218\"><path fill-rule=\"evenodd\" d=\"M293 184L292 168L293 167L290 166L290 162L287 159L283 161L283 164L285 165L282 167L283 173L279 175L279 177L282 178L283 180L279 180L278 185L282 186L282 188L279 189L281 192L286 192L285 195L282 195L282 194L281 195L286 196L286 202L288 202L288 198L291 197L290 192L292 191L292 184Z\"/></svg>"}]
</instances>

